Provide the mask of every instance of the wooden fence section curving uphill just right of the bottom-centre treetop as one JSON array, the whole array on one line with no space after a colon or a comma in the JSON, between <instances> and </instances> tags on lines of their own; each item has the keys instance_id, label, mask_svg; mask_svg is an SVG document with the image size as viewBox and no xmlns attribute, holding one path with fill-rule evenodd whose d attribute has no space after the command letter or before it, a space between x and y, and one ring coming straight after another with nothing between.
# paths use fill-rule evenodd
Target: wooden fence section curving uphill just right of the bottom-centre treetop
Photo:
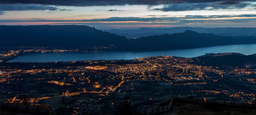
<instances>
[{"instance_id":1,"label":"wooden fence section curving uphill just right of the bottom-centre treetop","mask_svg":"<svg viewBox=\"0 0 256 115\"><path fill-rule=\"evenodd\" d=\"M171 102L169 105L166 105L163 107L152 107L151 109L148 109L148 110L137 111L137 115L154 115L154 114L168 112L172 108L172 103L173 103L173 97L171 97Z\"/></svg>"}]
</instances>

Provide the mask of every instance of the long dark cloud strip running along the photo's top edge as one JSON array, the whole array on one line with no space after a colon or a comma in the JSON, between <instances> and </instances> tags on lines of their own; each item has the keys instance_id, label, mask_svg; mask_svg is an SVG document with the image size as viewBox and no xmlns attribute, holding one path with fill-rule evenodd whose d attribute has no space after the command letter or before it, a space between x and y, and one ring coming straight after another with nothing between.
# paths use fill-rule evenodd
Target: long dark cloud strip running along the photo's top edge
<instances>
[{"instance_id":1,"label":"long dark cloud strip running along the photo's top edge","mask_svg":"<svg viewBox=\"0 0 256 115\"><path fill-rule=\"evenodd\" d=\"M209 3L239 4L243 1L255 0L1 0L1 4L42 4L62 6L106 6L106 5L159 5L177 3Z\"/></svg>"}]
</instances>

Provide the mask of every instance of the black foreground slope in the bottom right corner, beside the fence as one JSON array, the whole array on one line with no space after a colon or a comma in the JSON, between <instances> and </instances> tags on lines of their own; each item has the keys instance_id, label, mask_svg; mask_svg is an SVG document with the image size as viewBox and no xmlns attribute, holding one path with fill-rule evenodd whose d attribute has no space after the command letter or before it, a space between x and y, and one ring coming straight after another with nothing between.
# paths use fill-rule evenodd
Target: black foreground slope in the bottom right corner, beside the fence
<instances>
[{"instance_id":1,"label":"black foreground slope in the bottom right corner, beside the fence","mask_svg":"<svg viewBox=\"0 0 256 115\"><path fill-rule=\"evenodd\" d=\"M170 112L160 115L255 115L253 107L174 102Z\"/></svg>"}]
</instances>

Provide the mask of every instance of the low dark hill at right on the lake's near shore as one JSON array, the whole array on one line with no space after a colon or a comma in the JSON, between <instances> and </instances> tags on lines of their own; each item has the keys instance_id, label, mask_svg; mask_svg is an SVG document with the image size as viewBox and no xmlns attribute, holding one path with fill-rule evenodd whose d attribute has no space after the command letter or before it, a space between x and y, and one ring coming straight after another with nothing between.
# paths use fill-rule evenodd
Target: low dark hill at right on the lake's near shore
<instances>
[{"instance_id":1,"label":"low dark hill at right on the lake's near shore","mask_svg":"<svg viewBox=\"0 0 256 115\"><path fill-rule=\"evenodd\" d=\"M195 59L197 58L197 59ZM256 54L244 55L241 53L217 53L206 54L203 56L193 58L195 62L200 65L207 66L240 66L240 67L255 67L256 66Z\"/></svg>"}]
</instances>

